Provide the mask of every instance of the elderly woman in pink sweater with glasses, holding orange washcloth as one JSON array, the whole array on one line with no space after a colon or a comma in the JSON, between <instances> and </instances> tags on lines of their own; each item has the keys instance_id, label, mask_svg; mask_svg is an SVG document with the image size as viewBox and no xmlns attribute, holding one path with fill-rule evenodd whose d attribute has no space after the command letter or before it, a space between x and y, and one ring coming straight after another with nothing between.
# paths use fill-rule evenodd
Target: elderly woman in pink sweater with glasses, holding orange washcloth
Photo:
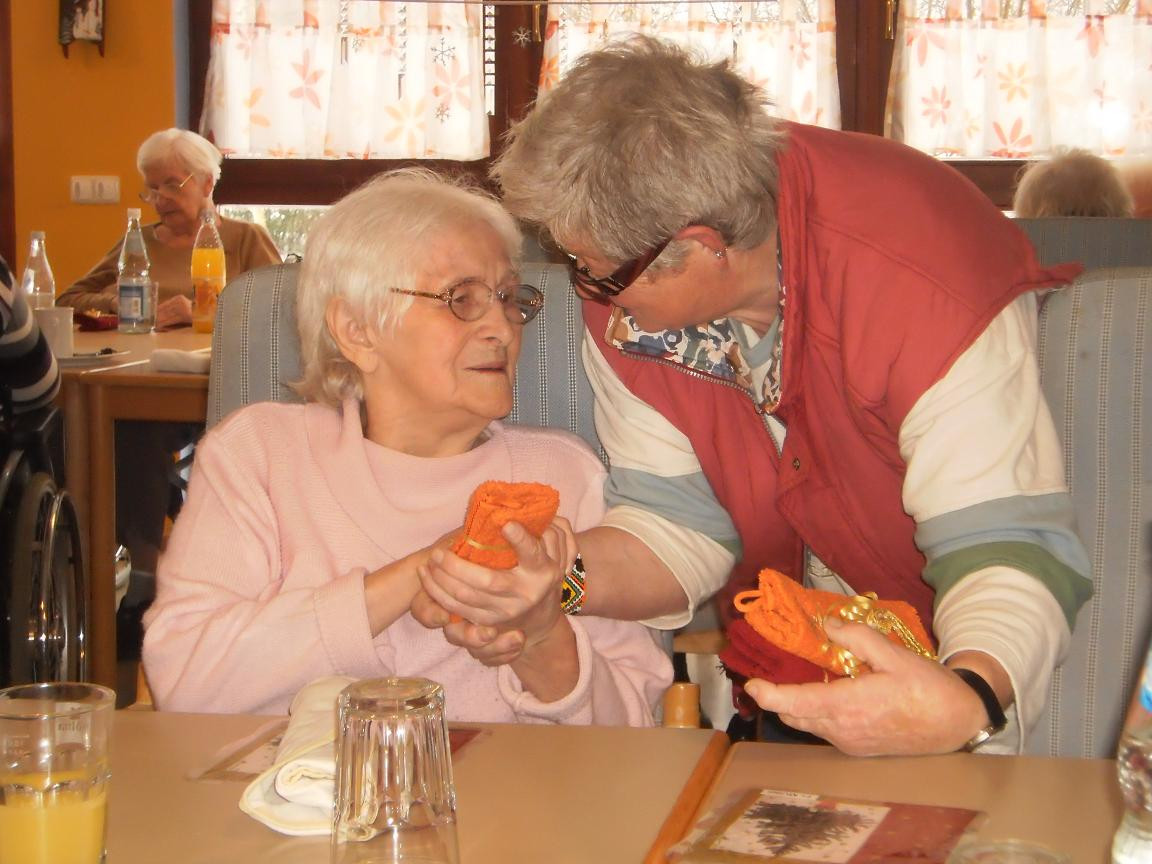
<instances>
[{"instance_id":1,"label":"elderly woman in pink sweater with glasses, holding orange washcloth","mask_svg":"<svg viewBox=\"0 0 1152 864\"><path fill-rule=\"evenodd\" d=\"M252 404L205 437L145 617L144 666L174 711L283 712L333 674L439 681L456 720L650 725L670 680L639 624L568 616L574 529L604 510L605 471L577 438L505 426L523 328L520 234L486 195L385 174L313 228L300 276L305 404ZM537 482L560 516L505 537L493 571L448 551L472 490ZM448 561L455 612L494 651L409 614ZM438 590L438 589L433 589Z\"/></svg>"}]
</instances>

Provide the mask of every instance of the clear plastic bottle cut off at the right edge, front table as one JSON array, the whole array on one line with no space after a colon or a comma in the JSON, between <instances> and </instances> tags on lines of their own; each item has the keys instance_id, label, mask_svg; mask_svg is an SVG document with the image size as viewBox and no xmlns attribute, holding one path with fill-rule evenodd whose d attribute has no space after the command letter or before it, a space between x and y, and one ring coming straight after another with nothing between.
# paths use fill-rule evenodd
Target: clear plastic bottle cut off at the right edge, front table
<instances>
[{"instance_id":1,"label":"clear plastic bottle cut off at the right edge, front table","mask_svg":"<svg viewBox=\"0 0 1152 864\"><path fill-rule=\"evenodd\" d=\"M1124 818L1112 841L1113 864L1152 862L1152 645L1136 685L1116 755Z\"/></svg>"}]
</instances>

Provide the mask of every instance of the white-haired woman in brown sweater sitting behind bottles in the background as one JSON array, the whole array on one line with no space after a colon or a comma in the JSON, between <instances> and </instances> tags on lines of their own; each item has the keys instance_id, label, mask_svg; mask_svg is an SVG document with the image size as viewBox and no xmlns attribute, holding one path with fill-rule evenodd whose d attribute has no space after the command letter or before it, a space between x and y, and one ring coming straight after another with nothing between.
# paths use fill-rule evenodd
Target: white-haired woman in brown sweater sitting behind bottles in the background
<instances>
[{"instance_id":1,"label":"white-haired woman in brown sweater sitting behind bottles in the background","mask_svg":"<svg viewBox=\"0 0 1152 864\"><path fill-rule=\"evenodd\" d=\"M192 323L192 243L200 227L200 211L214 209L212 190L220 179L220 151L212 142L187 129L156 132L136 152L136 168L144 181L141 198L160 217L159 222L143 226L159 295L157 329ZM229 279L280 263L280 252L262 226L217 215L217 227ZM120 305L116 264L121 245L123 237L56 298L56 305L73 306L77 312L115 313Z\"/></svg>"}]
</instances>

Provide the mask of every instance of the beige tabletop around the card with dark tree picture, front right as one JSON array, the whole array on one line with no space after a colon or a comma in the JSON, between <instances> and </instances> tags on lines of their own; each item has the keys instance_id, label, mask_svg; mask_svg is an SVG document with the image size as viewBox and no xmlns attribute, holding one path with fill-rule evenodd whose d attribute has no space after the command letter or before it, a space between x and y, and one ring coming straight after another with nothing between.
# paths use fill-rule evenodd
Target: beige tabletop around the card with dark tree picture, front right
<instances>
[{"instance_id":1,"label":"beige tabletop around the card with dark tree picture, front right","mask_svg":"<svg viewBox=\"0 0 1152 864\"><path fill-rule=\"evenodd\" d=\"M1120 824L1111 759L949 753L862 759L831 746L740 743L732 746L702 811L748 789L790 789L843 798L980 810L985 839L1018 838L1107 864Z\"/></svg>"}]
</instances>

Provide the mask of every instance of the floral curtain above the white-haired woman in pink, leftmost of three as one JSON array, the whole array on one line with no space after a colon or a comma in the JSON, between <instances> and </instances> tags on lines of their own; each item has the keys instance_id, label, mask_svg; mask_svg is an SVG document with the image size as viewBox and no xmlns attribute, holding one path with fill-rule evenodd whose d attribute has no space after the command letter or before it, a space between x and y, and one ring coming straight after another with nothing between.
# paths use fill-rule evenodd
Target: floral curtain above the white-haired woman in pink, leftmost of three
<instances>
[{"instance_id":1,"label":"floral curtain above the white-haired woman in pink, leftmost of three","mask_svg":"<svg viewBox=\"0 0 1152 864\"><path fill-rule=\"evenodd\" d=\"M272 158L488 153L482 3L214 0L200 134Z\"/></svg>"}]
</instances>

